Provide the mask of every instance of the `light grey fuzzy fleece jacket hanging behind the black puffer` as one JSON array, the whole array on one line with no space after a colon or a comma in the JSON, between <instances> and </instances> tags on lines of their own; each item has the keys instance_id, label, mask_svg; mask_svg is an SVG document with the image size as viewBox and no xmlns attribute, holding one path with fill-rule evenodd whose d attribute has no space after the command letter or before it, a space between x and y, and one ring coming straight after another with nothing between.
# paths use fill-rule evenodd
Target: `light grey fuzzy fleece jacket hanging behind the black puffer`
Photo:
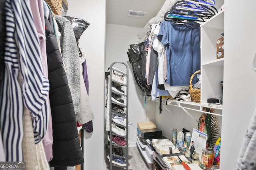
<instances>
[{"instance_id":1,"label":"light grey fuzzy fleece jacket hanging behind the black puffer","mask_svg":"<svg viewBox=\"0 0 256 170\"><path fill-rule=\"evenodd\" d=\"M55 15L60 36L62 59L66 68L68 85L74 104L76 115L80 113L80 61L76 38L70 21L62 16Z\"/></svg>"}]
</instances>

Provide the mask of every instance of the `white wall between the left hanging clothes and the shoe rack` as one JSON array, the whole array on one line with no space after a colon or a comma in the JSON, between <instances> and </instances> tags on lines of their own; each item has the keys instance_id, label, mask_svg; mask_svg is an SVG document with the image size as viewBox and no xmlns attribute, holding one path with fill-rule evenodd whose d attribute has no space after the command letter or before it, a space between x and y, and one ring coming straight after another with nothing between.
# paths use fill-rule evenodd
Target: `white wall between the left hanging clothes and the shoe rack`
<instances>
[{"instance_id":1,"label":"white wall between the left hanging clothes and the shoe rack","mask_svg":"<svg viewBox=\"0 0 256 170\"><path fill-rule=\"evenodd\" d=\"M79 40L86 52L89 78L89 99L95 119L93 132L84 131L84 170L97 167L103 170L104 163L104 80L105 80L105 0L69 0L67 16L90 22Z\"/></svg>"}]
</instances>

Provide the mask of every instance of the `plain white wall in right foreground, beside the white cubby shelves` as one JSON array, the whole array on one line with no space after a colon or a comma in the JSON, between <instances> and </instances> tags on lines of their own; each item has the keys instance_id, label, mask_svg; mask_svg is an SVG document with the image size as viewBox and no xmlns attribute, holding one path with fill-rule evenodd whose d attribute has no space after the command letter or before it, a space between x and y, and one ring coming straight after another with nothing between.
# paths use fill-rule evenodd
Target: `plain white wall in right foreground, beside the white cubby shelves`
<instances>
[{"instance_id":1,"label":"plain white wall in right foreground, beside the white cubby shelves","mask_svg":"<svg viewBox=\"0 0 256 170\"><path fill-rule=\"evenodd\" d=\"M252 59L256 52L254 0L225 1L224 92L220 169L234 169L250 118L256 107L256 72ZM255 153L254 153L255 154Z\"/></svg>"}]
</instances>

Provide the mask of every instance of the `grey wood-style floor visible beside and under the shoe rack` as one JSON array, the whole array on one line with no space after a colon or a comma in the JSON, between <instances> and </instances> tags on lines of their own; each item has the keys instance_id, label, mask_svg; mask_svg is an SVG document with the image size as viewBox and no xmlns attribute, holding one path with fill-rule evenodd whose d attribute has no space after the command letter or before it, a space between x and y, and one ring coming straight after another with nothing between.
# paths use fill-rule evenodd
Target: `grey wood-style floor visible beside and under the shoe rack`
<instances>
[{"instance_id":1,"label":"grey wood-style floor visible beside and under the shoe rack","mask_svg":"<svg viewBox=\"0 0 256 170\"><path fill-rule=\"evenodd\" d=\"M107 151L107 154L109 150ZM140 156L140 152L137 147L129 147L129 170L150 170L145 164L143 158ZM106 170L110 169L110 162L106 157ZM112 170L123 170L124 168L112 166Z\"/></svg>"}]
</instances>

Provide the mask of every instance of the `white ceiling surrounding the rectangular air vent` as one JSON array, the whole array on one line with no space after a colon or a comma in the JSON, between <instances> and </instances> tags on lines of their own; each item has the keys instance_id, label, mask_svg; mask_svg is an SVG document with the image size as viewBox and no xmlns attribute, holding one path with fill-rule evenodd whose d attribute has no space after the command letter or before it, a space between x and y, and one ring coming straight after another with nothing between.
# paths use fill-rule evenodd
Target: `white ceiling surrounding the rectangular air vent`
<instances>
[{"instance_id":1,"label":"white ceiling surrounding the rectangular air vent","mask_svg":"<svg viewBox=\"0 0 256 170\"><path fill-rule=\"evenodd\" d=\"M106 0L107 23L144 27L160 11L165 0ZM128 11L147 12L145 18L128 16Z\"/></svg>"}]
</instances>

